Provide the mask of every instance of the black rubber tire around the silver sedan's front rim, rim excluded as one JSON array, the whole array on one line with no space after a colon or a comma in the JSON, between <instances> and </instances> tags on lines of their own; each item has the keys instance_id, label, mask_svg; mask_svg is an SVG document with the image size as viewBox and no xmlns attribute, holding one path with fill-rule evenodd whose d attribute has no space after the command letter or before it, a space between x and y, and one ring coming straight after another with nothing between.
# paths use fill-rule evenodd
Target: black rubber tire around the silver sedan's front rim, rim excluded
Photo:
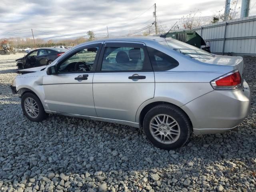
<instances>
[{"instance_id":1,"label":"black rubber tire around the silver sedan's front rim, rim excluded","mask_svg":"<svg viewBox=\"0 0 256 192\"><path fill-rule=\"evenodd\" d=\"M31 117L28 112L25 110L25 100L27 98L32 98L37 106L38 106L38 116L33 118ZM40 99L32 92L26 92L22 95L22 98L21 98L21 107L22 107L22 111L23 113L25 114L25 116L30 120L30 121L33 121L33 122L40 122L44 119L46 119L48 117L48 114L44 111L44 107L40 101Z\"/></svg>"}]
</instances>

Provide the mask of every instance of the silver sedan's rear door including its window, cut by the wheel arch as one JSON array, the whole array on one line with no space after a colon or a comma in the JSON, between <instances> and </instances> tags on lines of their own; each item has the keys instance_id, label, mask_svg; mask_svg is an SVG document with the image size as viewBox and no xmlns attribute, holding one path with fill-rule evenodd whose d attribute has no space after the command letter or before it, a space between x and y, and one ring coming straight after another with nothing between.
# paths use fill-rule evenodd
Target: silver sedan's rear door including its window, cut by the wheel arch
<instances>
[{"instance_id":1,"label":"silver sedan's rear door including its window, cut by the wheel arch","mask_svg":"<svg viewBox=\"0 0 256 192\"><path fill-rule=\"evenodd\" d=\"M135 122L139 106L154 97L154 72L146 46L105 42L93 78L98 117Z\"/></svg>"}]
</instances>

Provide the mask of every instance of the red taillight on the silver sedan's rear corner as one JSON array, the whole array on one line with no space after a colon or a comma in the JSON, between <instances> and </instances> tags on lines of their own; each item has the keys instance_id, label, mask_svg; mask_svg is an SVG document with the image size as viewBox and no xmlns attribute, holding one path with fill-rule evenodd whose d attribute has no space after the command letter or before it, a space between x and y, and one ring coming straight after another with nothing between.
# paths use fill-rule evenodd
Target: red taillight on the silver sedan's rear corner
<instances>
[{"instance_id":1,"label":"red taillight on the silver sedan's rear corner","mask_svg":"<svg viewBox=\"0 0 256 192\"><path fill-rule=\"evenodd\" d=\"M215 90L233 90L240 88L241 76L238 70L234 70L212 80L210 83Z\"/></svg>"}]
</instances>

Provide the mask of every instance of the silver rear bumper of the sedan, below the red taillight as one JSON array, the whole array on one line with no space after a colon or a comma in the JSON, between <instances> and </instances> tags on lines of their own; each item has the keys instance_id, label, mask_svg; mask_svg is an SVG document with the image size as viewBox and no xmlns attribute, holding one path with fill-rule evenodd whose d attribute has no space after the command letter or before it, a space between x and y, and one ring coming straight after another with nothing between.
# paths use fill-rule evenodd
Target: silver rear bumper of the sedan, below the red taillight
<instances>
[{"instance_id":1,"label":"silver rear bumper of the sedan, below the red taillight","mask_svg":"<svg viewBox=\"0 0 256 192\"><path fill-rule=\"evenodd\" d=\"M194 134L223 133L236 128L250 111L250 88L214 90L182 106L193 125Z\"/></svg>"}]
</instances>

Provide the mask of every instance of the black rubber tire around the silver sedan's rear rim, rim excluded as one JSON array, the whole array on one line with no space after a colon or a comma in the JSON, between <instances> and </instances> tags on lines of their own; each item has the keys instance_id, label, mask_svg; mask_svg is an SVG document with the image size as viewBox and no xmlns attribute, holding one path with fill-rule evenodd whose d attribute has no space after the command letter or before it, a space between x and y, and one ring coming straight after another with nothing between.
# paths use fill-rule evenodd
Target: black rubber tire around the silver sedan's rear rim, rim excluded
<instances>
[{"instance_id":1,"label":"black rubber tire around the silver sedan's rear rim, rim excluded","mask_svg":"<svg viewBox=\"0 0 256 192\"><path fill-rule=\"evenodd\" d=\"M174 135L174 137L176 137L176 141L174 140L174 142L172 142L171 140L168 139L169 140L168 142L172 142L170 144L164 144L162 142L159 142L156 138L154 138L154 136L152 136L152 134L150 132L151 120L156 115L161 115L161 114L171 116L178 123L179 129L180 129L180 135L179 136ZM154 129L157 131L158 129L161 128L160 126L161 125L159 125L159 128L154 128ZM150 109L147 112L147 114L143 120L143 129L144 129L144 132L145 132L148 140L154 146L156 146L160 149L164 149L164 150L172 150L172 149L177 149L177 148L182 147L188 141L192 127L191 127L190 120L188 119L188 117L186 116L184 111L182 111L180 108L178 108L176 106L168 105L168 104L161 104L161 105L153 107L152 109ZM168 130L169 130L169 128L168 128ZM164 134L166 134L166 132L164 132ZM160 136L160 138L162 138L162 136Z\"/></svg>"}]
</instances>

